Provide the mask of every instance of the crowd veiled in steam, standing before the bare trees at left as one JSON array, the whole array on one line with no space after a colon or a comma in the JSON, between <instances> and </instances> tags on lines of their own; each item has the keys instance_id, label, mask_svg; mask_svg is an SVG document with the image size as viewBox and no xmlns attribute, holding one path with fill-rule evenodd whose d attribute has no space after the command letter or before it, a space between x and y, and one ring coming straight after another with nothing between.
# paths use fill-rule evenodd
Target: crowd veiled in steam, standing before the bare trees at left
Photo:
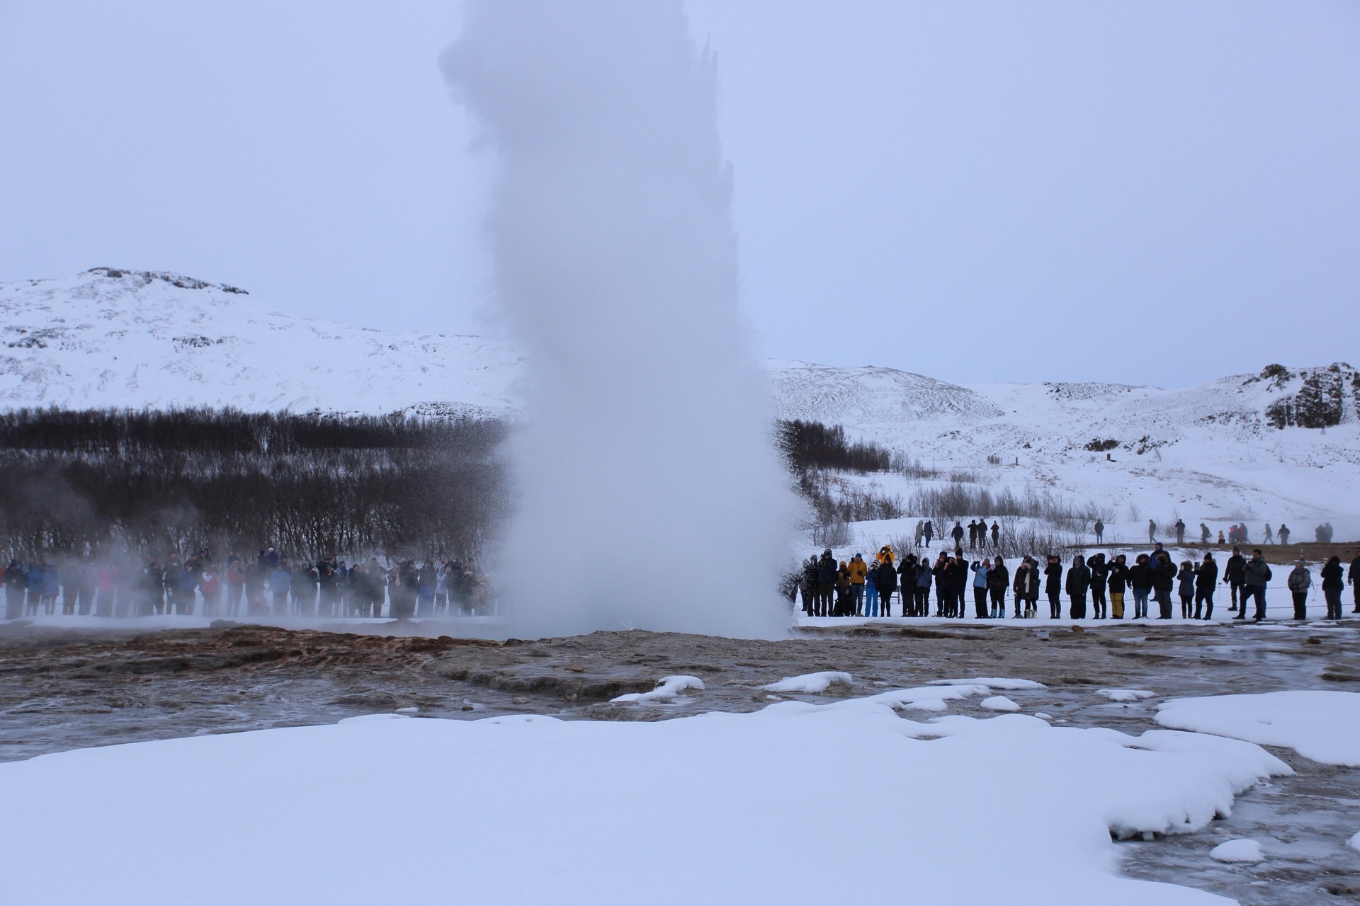
<instances>
[{"instance_id":1,"label":"crowd veiled in steam, standing before the bare trees at left","mask_svg":"<svg viewBox=\"0 0 1360 906\"><path fill-rule=\"evenodd\" d=\"M4 617L38 614L150 617L437 617L491 611L487 583L457 560L347 564L333 556L290 562L273 547L215 561L207 547L190 557L68 558L4 570Z\"/></svg>"}]
</instances>

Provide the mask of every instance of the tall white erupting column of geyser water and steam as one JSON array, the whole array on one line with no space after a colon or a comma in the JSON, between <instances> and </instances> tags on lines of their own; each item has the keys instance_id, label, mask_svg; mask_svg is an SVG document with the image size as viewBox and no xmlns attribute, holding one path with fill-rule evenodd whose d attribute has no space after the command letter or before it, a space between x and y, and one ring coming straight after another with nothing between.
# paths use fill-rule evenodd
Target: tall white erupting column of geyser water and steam
<instances>
[{"instance_id":1,"label":"tall white erupting column of geyser water and steam","mask_svg":"<svg viewBox=\"0 0 1360 906\"><path fill-rule=\"evenodd\" d=\"M797 504L681 4L472 0L441 64L496 155L496 291L529 365L495 570L515 632L785 632Z\"/></svg>"}]
</instances>

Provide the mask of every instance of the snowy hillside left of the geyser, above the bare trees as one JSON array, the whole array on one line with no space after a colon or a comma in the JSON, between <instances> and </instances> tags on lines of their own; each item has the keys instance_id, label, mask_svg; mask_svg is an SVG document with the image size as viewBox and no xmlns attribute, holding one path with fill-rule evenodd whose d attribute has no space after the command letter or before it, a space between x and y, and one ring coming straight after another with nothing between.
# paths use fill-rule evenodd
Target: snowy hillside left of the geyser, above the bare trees
<instances>
[{"instance_id":1,"label":"snowy hillside left of the geyser, above the bare trees","mask_svg":"<svg viewBox=\"0 0 1360 906\"><path fill-rule=\"evenodd\" d=\"M503 342L283 315L235 287L173 273L95 268L0 284L0 405L10 407L515 406L520 359Z\"/></svg>"}]
</instances>

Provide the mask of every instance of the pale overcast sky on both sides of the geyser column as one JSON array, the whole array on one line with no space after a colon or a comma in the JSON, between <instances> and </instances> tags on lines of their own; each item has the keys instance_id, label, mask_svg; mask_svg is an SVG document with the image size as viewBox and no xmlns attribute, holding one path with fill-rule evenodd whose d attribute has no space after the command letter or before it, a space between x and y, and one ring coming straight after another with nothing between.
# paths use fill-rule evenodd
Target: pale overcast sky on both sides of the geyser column
<instances>
[{"instance_id":1,"label":"pale overcast sky on both sides of the geyser column","mask_svg":"<svg viewBox=\"0 0 1360 906\"><path fill-rule=\"evenodd\" d=\"M690 10L763 355L1163 386L1360 364L1360 3ZM491 171L437 62L458 23L0 0L0 280L167 269L495 333Z\"/></svg>"}]
</instances>

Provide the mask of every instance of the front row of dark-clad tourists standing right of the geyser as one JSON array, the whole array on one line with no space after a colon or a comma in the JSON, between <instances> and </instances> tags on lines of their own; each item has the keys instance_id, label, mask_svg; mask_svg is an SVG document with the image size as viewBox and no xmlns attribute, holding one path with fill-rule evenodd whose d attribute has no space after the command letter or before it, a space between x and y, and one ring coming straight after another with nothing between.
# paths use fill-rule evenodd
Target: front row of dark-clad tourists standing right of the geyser
<instances>
[{"instance_id":1,"label":"front row of dark-clad tourists standing right of the geyser","mask_svg":"<svg viewBox=\"0 0 1360 906\"><path fill-rule=\"evenodd\" d=\"M1129 562L1127 554L1107 558L1104 553L1089 557L1076 556L1068 566L1055 554L1039 562L1021 557L1012 573L1005 558L983 557L970 560L962 546L953 553L941 550L932 561L929 554L908 553L898 557L892 546L884 546L869 562L857 553L849 560L836 560L831 549L813 556L802 565L796 592L802 599L808 617L892 617L894 596L899 617L967 617L968 592L972 592L972 617L1000 619L1006 617L1006 592L1010 594L1010 618L1034 618L1040 596L1049 606L1049 618L1061 619L1064 598L1070 619L1125 619L1132 603L1133 619L1149 618L1149 606L1156 604L1157 619L1175 615L1175 599L1180 600L1183 619L1212 619L1213 596L1220 584L1228 585L1229 613L1235 619L1266 618L1266 588L1273 577L1262 550L1250 556L1240 547L1232 549L1220 570L1213 551L1202 558L1183 560L1178 566L1171 553L1156 543ZM1352 585L1355 607L1360 614L1360 550L1344 569L1340 557L1331 557L1321 570L1321 588L1327 604L1327 619L1341 619L1342 592ZM1308 590L1312 573L1300 560L1288 576L1293 598L1293 618L1307 619ZM934 614L930 613L930 592L934 590ZM790 591L790 596L792 596ZM1132 602L1129 600L1132 599ZM1251 613L1248 614L1248 606Z\"/></svg>"}]
</instances>

